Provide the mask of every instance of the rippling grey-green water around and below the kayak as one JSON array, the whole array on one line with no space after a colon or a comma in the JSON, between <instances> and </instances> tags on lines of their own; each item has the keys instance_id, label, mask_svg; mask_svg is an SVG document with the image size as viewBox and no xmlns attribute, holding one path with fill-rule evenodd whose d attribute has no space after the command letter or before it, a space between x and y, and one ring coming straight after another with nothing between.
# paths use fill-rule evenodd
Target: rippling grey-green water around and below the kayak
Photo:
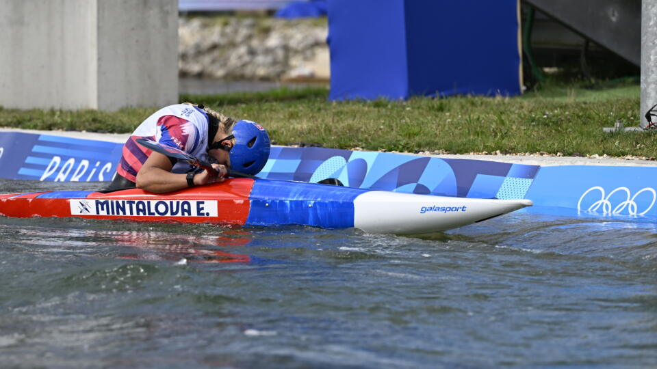
<instances>
[{"instance_id":1,"label":"rippling grey-green water around and below the kayak","mask_svg":"<svg viewBox=\"0 0 657 369\"><path fill-rule=\"evenodd\" d=\"M2 366L657 365L654 219L419 238L0 218L0 240Z\"/></svg>"}]
</instances>

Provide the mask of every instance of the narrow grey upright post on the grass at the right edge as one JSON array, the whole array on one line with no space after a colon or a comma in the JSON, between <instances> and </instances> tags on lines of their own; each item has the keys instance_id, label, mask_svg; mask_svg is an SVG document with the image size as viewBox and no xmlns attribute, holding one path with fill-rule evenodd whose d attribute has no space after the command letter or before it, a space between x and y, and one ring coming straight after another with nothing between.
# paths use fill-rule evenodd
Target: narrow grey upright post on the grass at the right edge
<instances>
[{"instance_id":1,"label":"narrow grey upright post on the grass at the right edge","mask_svg":"<svg viewBox=\"0 0 657 369\"><path fill-rule=\"evenodd\" d=\"M657 0L641 2L641 126L643 117L657 104ZM657 118L654 118L657 122Z\"/></svg>"}]
</instances>

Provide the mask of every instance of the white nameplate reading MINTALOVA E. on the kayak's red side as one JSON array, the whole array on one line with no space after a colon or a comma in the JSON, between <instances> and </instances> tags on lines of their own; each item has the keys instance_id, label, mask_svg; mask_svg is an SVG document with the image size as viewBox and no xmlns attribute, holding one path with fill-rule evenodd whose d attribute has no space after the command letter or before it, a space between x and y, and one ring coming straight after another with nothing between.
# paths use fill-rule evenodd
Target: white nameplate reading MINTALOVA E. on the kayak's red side
<instances>
[{"instance_id":1,"label":"white nameplate reading MINTALOVA E. on the kayak's red side","mask_svg":"<svg viewBox=\"0 0 657 369\"><path fill-rule=\"evenodd\" d=\"M216 200L70 200L70 215L216 217Z\"/></svg>"}]
</instances>

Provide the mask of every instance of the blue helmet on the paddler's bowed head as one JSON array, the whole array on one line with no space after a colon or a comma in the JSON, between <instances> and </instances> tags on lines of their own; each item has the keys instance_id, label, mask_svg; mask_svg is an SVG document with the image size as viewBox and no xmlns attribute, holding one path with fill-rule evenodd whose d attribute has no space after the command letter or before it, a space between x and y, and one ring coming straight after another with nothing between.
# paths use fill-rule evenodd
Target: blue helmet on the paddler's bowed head
<instances>
[{"instance_id":1,"label":"blue helmet on the paddler's bowed head","mask_svg":"<svg viewBox=\"0 0 657 369\"><path fill-rule=\"evenodd\" d=\"M250 120L240 120L233 126L235 145L231 150L231 169L255 175L269 159L271 143L265 128Z\"/></svg>"}]
</instances>

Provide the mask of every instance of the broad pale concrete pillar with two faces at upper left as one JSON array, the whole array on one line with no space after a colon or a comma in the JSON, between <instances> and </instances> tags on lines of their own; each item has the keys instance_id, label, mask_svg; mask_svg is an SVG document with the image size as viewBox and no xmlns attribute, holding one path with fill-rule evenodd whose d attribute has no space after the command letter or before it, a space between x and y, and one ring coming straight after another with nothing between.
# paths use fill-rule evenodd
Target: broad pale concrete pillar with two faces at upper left
<instances>
[{"instance_id":1,"label":"broad pale concrete pillar with two faces at upper left","mask_svg":"<svg viewBox=\"0 0 657 369\"><path fill-rule=\"evenodd\" d=\"M1 106L177 102L177 0L0 0L0 9Z\"/></svg>"}]
</instances>

